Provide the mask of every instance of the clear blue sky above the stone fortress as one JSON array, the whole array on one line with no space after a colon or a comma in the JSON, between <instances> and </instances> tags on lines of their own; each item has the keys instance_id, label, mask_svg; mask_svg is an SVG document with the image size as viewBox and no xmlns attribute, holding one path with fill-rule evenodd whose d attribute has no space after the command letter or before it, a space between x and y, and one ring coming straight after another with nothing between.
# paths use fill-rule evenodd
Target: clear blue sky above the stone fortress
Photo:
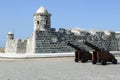
<instances>
[{"instance_id":1,"label":"clear blue sky above the stone fortress","mask_svg":"<svg viewBox=\"0 0 120 80\"><path fill-rule=\"evenodd\" d=\"M120 0L0 0L0 47L9 31L25 39L33 32L33 14L44 6L53 28L120 31Z\"/></svg>"}]
</instances>

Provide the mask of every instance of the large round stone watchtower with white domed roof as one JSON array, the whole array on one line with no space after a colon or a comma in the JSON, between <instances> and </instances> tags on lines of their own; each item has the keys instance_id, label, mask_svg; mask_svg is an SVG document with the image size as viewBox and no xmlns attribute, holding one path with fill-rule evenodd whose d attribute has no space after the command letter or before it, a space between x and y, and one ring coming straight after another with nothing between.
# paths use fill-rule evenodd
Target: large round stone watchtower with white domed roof
<instances>
[{"instance_id":1,"label":"large round stone watchtower with white domed roof","mask_svg":"<svg viewBox=\"0 0 120 80\"><path fill-rule=\"evenodd\" d=\"M50 16L51 14L44 7L40 7L34 16L34 31L44 31L51 27Z\"/></svg>"}]
</instances>

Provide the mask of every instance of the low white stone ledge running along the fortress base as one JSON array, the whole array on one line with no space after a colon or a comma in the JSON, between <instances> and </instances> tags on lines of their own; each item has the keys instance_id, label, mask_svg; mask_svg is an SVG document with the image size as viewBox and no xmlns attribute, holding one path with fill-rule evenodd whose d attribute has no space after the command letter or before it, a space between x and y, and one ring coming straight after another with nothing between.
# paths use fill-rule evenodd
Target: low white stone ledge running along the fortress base
<instances>
[{"instance_id":1,"label":"low white stone ledge running along the fortress base","mask_svg":"<svg viewBox=\"0 0 120 80\"><path fill-rule=\"evenodd\" d=\"M120 56L120 51L110 51L115 56ZM54 58L54 57L73 57L74 52L67 53L0 53L0 58L14 58L14 59L27 59L27 58Z\"/></svg>"}]
</instances>

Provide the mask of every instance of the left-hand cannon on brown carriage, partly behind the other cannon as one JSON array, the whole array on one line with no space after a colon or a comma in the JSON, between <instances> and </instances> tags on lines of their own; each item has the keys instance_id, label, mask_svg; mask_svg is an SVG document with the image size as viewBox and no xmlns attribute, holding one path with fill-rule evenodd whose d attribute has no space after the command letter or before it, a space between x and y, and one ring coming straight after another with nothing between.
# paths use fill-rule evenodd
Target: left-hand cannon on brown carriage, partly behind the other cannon
<instances>
[{"instance_id":1,"label":"left-hand cannon on brown carriage, partly behind the other cannon","mask_svg":"<svg viewBox=\"0 0 120 80\"><path fill-rule=\"evenodd\" d=\"M81 61L83 63L87 62L88 60L92 59L92 54L89 51L82 50L76 45L73 45L71 43L67 43L68 46L71 46L74 48L75 51L75 62Z\"/></svg>"}]
</instances>

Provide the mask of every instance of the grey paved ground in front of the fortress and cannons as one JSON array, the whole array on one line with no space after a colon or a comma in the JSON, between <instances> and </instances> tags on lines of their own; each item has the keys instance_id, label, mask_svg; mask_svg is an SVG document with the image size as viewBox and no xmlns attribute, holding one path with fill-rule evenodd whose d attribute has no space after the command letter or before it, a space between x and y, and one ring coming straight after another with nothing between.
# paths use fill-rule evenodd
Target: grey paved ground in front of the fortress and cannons
<instances>
[{"instance_id":1,"label":"grey paved ground in front of the fortress and cannons","mask_svg":"<svg viewBox=\"0 0 120 80\"><path fill-rule=\"evenodd\" d=\"M74 58L0 61L0 80L120 80L119 75L120 63L92 65L75 63Z\"/></svg>"}]
</instances>

